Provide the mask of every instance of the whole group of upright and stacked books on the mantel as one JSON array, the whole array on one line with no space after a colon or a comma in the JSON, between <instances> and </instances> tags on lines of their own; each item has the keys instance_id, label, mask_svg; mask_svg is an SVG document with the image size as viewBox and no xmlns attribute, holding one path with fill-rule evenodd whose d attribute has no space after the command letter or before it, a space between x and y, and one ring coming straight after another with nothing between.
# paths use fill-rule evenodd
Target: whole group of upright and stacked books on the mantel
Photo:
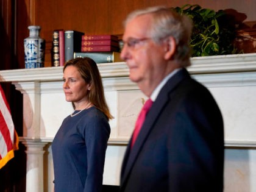
<instances>
[{"instance_id":1,"label":"whole group of upright and stacked books on the mantel","mask_svg":"<svg viewBox=\"0 0 256 192\"><path fill-rule=\"evenodd\" d=\"M121 62L119 41L115 35L85 35L76 30L54 30L53 66L63 66L77 57L90 57L96 63Z\"/></svg>"}]
</instances>

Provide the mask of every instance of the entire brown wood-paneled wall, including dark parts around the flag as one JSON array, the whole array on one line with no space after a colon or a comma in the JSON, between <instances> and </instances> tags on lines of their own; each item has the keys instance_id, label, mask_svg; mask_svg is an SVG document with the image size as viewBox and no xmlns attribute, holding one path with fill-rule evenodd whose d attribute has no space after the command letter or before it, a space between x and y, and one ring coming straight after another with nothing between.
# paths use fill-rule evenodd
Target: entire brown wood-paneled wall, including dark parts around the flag
<instances>
[{"instance_id":1,"label":"entire brown wood-paneled wall, including dark parts around the flag","mask_svg":"<svg viewBox=\"0 0 256 192\"><path fill-rule=\"evenodd\" d=\"M229 9L242 21L256 20L255 0L0 0L0 3L0 70L24 68L23 41L29 36L29 25L41 26L40 36L46 40L44 66L51 66L54 29L80 30L86 34L116 34L121 37L122 22L127 13L143 7L199 4L214 10ZM15 128L18 135L22 136L22 96L11 86L4 86L7 90L5 93ZM21 152L24 149L17 151L15 158L0 170L0 191L25 191L26 154L19 154Z\"/></svg>"}]
</instances>

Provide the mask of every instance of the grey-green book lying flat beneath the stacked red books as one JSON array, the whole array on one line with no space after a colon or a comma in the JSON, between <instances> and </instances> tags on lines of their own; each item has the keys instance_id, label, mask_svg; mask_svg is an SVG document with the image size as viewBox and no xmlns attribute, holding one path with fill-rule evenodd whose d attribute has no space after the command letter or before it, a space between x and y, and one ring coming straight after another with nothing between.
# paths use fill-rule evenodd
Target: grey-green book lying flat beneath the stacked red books
<instances>
[{"instance_id":1,"label":"grey-green book lying flat beneath the stacked red books","mask_svg":"<svg viewBox=\"0 0 256 192\"><path fill-rule=\"evenodd\" d=\"M120 52L74 52L74 58L90 57L96 63L123 62L120 58Z\"/></svg>"}]
</instances>

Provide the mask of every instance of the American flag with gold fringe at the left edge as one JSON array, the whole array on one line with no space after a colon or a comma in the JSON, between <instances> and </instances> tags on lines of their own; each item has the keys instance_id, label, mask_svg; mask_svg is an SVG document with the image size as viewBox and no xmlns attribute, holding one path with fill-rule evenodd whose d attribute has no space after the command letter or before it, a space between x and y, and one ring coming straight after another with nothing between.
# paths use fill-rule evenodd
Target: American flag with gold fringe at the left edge
<instances>
[{"instance_id":1,"label":"American flag with gold fringe at the left edge","mask_svg":"<svg viewBox=\"0 0 256 192\"><path fill-rule=\"evenodd\" d=\"M10 107L0 85L0 169L14 157L14 150L18 149L18 143Z\"/></svg>"}]
</instances>

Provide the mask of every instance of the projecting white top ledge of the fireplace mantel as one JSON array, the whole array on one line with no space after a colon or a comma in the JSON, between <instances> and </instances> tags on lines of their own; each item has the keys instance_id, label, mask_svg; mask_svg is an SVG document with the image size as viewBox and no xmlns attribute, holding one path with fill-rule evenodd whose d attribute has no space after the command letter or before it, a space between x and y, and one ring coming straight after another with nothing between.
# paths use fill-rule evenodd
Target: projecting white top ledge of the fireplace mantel
<instances>
[{"instance_id":1,"label":"projecting white top ledge of the fireplace mantel","mask_svg":"<svg viewBox=\"0 0 256 192\"><path fill-rule=\"evenodd\" d=\"M209 57L192 57L192 66L188 68L191 74L209 73L240 73L256 70L256 54L218 55ZM98 64L102 78L128 77L129 69L125 63ZM0 82L27 81L59 81L62 80L62 66L35 69L12 69L0 71Z\"/></svg>"}]
</instances>

